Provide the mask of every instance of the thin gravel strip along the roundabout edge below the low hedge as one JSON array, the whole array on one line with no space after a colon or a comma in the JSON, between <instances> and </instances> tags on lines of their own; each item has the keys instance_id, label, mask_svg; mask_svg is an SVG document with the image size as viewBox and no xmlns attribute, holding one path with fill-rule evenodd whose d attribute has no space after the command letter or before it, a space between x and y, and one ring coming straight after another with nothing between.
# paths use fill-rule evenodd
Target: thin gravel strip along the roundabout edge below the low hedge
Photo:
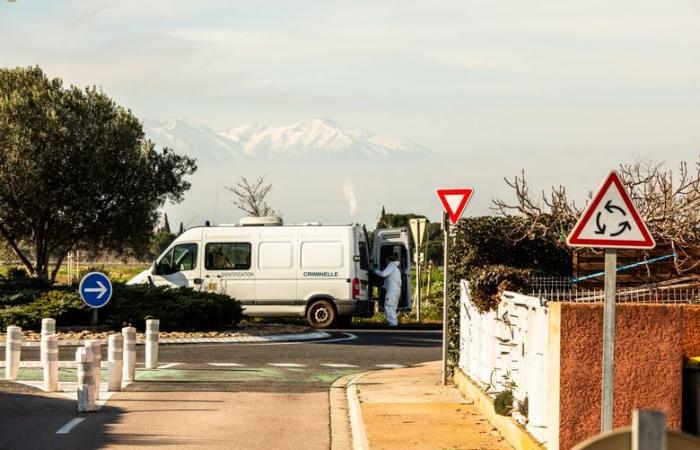
<instances>
[{"instance_id":1,"label":"thin gravel strip along the roundabout edge below the low hedge","mask_svg":"<svg viewBox=\"0 0 700 450\"><path fill-rule=\"evenodd\" d=\"M244 336L269 336L272 334L301 334L310 333L314 329L302 325L280 323L250 323L242 324L233 330L224 331L161 331L161 338L195 338L195 337L244 337ZM58 340L82 340L82 339L107 339L114 331L56 331ZM143 333L136 333L137 340L143 339ZM5 333L0 333L0 341L5 340ZM38 342L41 334L36 331L22 331L22 340L25 342Z\"/></svg>"}]
</instances>

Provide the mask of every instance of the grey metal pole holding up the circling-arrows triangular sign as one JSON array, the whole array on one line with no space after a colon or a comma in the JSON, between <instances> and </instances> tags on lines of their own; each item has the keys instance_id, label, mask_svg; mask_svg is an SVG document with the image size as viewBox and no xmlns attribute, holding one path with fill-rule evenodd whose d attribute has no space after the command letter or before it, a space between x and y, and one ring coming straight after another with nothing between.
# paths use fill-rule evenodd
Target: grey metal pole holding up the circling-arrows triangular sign
<instances>
[{"instance_id":1,"label":"grey metal pole holding up the circling-arrows triangular sign","mask_svg":"<svg viewBox=\"0 0 700 450\"><path fill-rule=\"evenodd\" d=\"M605 249L605 306L603 311L603 396L601 430L613 427L613 385L615 381L615 284L617 250Z\"/></svg>"}]
</instances>

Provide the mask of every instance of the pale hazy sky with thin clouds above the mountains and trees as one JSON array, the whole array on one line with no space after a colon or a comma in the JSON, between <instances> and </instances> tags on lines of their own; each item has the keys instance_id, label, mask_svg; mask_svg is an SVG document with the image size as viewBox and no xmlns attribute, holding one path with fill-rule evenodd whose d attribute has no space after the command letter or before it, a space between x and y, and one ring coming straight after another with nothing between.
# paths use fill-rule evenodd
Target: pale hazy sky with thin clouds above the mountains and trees
<instances>
[{"instance_id":1,"label":"pale hazy sky with thin clouds above the mountains and trees","mask_svg":"<svg viewBox=\"0 0 700 450\"><path fill-rule=\"evenodd\" d=\"M697 160L698 23L697 0L0 0L0 63L144 118L329 117L463 158L446 184L583 194L633 155Z\"/></svg>"}]
</instances>

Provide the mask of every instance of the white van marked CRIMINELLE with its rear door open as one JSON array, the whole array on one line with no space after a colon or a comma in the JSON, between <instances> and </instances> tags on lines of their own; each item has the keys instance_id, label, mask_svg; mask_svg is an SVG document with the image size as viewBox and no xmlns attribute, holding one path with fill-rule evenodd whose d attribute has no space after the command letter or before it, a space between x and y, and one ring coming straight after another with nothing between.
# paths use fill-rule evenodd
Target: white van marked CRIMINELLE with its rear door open
<instances>
[{"instance_id":1,"label":"white van marked CRIMINELLE with its rear door open","mask_svg":"<svg viewBox=\"0 0 700 450\"><path fill-rule=\"evenodd\" d=\"M389 255L398 258L404 272L399 310L410 309L410 254L405 228L377 230L370 257L360 225L282 225L246 218L239 225L185 231L129 284L217 292L240 301L248 316L306 317L313 327L327 328L374 314L371 268L383 269Z\"/></svg>"}]
</instances>

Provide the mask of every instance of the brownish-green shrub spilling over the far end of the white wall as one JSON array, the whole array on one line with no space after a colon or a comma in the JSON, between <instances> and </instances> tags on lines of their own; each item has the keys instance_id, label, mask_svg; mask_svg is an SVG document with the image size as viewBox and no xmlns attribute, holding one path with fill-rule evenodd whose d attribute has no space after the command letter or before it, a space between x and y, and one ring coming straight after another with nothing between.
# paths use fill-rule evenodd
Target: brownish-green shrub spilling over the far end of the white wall
<instances>
[{"instance_id":1,"label":"brownish-green shrub spilling over the far end of the white wall","mask_svg":"<svg viewBox=\"0 0 700 450\"><path fill-rule=\"evenodd\" d=\"M471 300L481 312L498 306L504 291L523 292L530 287L532 272L501 264L479 267L469 276Z\"/></svg>"}]
</instances>

